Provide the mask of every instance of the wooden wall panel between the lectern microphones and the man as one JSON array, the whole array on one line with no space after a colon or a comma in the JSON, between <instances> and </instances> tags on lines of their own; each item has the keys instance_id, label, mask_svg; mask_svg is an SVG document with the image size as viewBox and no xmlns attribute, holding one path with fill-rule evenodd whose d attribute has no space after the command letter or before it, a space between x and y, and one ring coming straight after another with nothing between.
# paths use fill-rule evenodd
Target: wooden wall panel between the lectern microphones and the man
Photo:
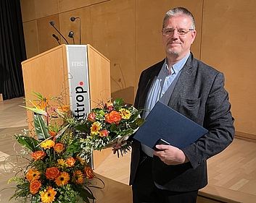
<instances>
[{"instance_id":1,"label":"wooden wall panel between the lectern microphones and the man","mask_svg":"<svg viewBox=\"0 0 256 203\"><path fill-rule=\"evenodd\" d=\"M135 1L113 0L91 7L92 42L111 61L111 90L133 103L136 78Z\"/></svg>"}]
</instances>

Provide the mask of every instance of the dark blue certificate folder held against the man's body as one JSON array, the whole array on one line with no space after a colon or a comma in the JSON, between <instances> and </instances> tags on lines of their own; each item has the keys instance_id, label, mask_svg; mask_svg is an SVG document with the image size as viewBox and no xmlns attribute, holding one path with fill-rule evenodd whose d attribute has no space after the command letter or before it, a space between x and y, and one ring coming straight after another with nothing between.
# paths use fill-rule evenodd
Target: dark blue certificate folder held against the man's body
<instances>
[{"instance_id":1,"label":"dark blue certificate folder held against the man's body","mask_svg":"<svg viewBox=\"0 0 256 203\"><path fill-rule=\"evenodd\" d=\"M159 139L182 149L206 133L207 129L158 101L133 138L152 149Z\"/></svg>"}]
</instances>

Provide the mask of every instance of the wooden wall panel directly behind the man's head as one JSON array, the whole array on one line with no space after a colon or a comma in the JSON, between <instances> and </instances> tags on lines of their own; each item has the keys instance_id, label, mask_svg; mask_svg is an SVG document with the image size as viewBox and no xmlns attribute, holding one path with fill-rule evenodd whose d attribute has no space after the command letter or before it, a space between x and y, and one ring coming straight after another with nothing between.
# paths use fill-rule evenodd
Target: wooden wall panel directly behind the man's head
<instances>
[{"instance_id":1,"label":"wooden wall panel directly behind the man's head","mask_svg":"<svg viewBox=\"0 0 256 203\"><path fill-rule=\"evenodd\" d=\"M165 13L174 7L186 7L194 15L197 38L191 51L199 59L202 0L195 0L193 4L187 0L161 3L154 0L136 1L136 82L139 81L139 76L144 69L165 58L161 36L162 20Z\"/></svg>"}]
</instances>

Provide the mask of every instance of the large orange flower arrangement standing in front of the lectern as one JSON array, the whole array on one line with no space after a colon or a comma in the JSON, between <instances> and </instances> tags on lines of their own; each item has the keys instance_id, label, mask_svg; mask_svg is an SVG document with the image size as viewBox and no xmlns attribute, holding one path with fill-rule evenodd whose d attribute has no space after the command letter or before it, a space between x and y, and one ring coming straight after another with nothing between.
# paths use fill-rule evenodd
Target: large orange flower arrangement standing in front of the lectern
<instances>
[{"instance_id":1,"label":"large orange flower arrangement standing in front of the lectern","mask_svg":"<svg viewBox=\"0 0 256 203\"><path fill-rule=\"evenodd\" d=\"M33 93L38 99L30 100L33 108L25 108L33 111L35 134L15 135L31 159L9 180L17 183L10 199L31 203L94 201L90 187L103 188L104 183L87 165L91 152L82 152L81 146L86 146L86 141L73 130L79 121L72 118L67 105L59 105L57 98L43 98L40 93ZM49 105L50 101L57 107ZM101 187L96 184L98 180Z\"/></svg>"}]
</instances>

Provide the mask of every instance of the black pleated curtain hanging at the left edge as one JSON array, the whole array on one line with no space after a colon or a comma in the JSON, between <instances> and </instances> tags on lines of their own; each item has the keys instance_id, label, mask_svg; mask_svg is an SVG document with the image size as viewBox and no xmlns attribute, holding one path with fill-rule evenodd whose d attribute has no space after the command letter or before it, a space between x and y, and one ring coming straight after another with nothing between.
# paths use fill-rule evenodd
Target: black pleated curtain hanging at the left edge
<instances>
[{"instance_id":1,"label":"black pleated curtain hanging at the left edge","mask_svg":"<svg viewBox=\"0 0 256 203\"><path fill-rule=\"evenodd\" d=\"M25 59L20 0L0 0L0 93L4 100L24 96L21 62Z\"/></svg>"}]
</instances>

